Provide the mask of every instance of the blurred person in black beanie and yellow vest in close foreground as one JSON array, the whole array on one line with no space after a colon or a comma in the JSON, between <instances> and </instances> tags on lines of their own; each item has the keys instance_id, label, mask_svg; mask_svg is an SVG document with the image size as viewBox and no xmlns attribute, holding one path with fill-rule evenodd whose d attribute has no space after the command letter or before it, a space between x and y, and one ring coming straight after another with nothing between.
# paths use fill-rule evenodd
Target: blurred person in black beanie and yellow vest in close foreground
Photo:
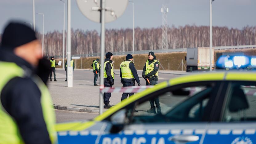
<instances>
[{"instance_id":1,"label":"blurred person in black beanie and yellow vest in close foreground","mask_svg":"<svg viewBox=\"0 0 256 144\"><path fill-rule=\"evenodd\" d=\"M46 86L50 62L42 59L42 46L29 26L6 26L0 69L0 143L56 143L55 112Z\"/></svg>"}]
</instances>

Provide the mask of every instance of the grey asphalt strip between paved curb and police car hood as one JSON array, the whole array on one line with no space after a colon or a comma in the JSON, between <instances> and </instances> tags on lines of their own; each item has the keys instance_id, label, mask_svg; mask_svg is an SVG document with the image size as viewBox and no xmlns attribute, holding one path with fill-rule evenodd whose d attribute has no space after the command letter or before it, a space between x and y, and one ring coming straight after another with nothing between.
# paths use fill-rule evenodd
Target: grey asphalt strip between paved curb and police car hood
<instances>
[{"instance_id":1,"label":"grey asphalt strip between paved curb and police car hood","mask_svg":"<svg viewBox=\"0 0 256 144\"><path fill-rule=\"evenodd\" d=\"M98 116L96 113L84 113L67 110L55 110L57 123L72 122L72 121L85 121Z\"/></svg>"}]
</instances>

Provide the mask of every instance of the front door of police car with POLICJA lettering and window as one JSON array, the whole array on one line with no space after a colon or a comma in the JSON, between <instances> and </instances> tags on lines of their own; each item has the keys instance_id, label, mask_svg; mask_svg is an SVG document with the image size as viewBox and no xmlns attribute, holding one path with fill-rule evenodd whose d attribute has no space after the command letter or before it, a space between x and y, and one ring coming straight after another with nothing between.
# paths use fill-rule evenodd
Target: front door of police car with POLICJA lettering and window
<instances>
[{"instance_id":1,"label":"front door of police car with POLICJA lettering and window","mask_svg":"<svg viewBox=\"0 0 256 144\"><path fill-rule=\"evenodd\" d=\"M105 134L98 142L103 144L199 143L205 134L220 86L221 82L214 81L191 82L169 86L145 95L130 108L119 111L126 113L127 124L120 130L117 130L120 128L118 126L112 126L109 132L105 130ZM148 111L149 100L153 98L159 98L162 113L157 113L159 111L157 109L156 113ZM112 117L118 118L119 112Z\"/></svg>"}]
</instances>

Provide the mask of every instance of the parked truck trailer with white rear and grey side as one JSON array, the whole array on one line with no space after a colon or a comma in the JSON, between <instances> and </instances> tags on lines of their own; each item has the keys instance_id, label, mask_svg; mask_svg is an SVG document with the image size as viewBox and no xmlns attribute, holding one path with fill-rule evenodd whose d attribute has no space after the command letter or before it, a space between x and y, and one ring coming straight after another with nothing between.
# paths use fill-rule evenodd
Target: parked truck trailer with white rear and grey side
<instances>
[{"instance_id":1,"label":"parked truck trailer with white rear and grey side","mask_svg":"<svg viewBox=\"0 0 256 144\"><path fill-rule=\"evenodd\" d=\"M212 48L212 69L214 68L214 49ZM187 49L187 72L194 70L210 70L210 48L198 47Z\"/></svg>"}]
</instances>

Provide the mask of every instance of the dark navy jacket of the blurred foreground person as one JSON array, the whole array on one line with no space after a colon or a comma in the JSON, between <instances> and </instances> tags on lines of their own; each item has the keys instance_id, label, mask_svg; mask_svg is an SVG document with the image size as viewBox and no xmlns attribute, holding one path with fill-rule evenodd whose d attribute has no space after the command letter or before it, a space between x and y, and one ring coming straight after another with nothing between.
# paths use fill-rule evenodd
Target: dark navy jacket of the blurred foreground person
<instances>
[{"instance_id":1,"label":"dark navy jacket of the blurred foreground person","mask_svg":"<svg viewBox=\"0 0 256 144\"><path fill-rule=\"evenodd\" d=\"M31 76L41 76L44 82L47 81L50 73L50 61L42 60L37 69L28 62L14 55L13 52L0 49L0 61L14 62L25 70L24 78L15 77L3 87L1 92L2 106L16 121L22 139L26 144L42 143L50 144L49 134L43 118L41 106L41 92L33 82ZM47 66L43 68L44 66ZM1 69L1 68L0 68ZM43 71L45 70L45 71Z\"/></svg>"}]
</instances>

